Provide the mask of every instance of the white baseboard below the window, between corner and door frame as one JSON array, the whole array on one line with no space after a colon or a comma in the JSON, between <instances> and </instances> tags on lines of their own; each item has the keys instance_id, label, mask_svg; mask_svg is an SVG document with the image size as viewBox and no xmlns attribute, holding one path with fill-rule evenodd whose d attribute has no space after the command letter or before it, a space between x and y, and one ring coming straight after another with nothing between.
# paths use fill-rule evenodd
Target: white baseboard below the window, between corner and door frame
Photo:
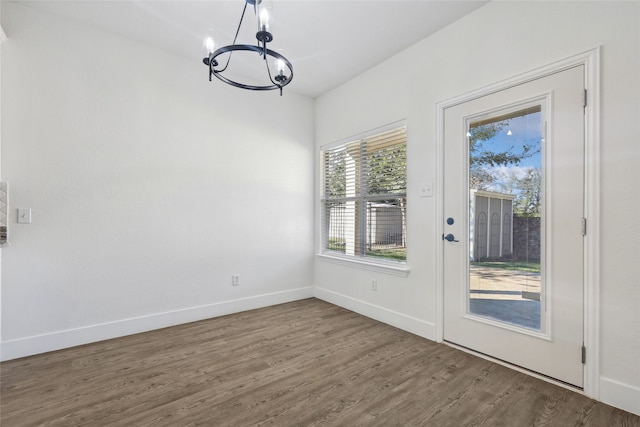
<instances>
[{"instance_id":1,"label":"white baseboard below the window, between corner and door frame","mask_svg":"<svg viewBox=\"0 0 640 427\"><path fill-rule=\"evenodd\" d=\"M342 295L328 289L319 288L317 286L314 288L313 292L314 296L318 299L435 341L436 327L433 323Z\"/></svg>"}]
</instances>

